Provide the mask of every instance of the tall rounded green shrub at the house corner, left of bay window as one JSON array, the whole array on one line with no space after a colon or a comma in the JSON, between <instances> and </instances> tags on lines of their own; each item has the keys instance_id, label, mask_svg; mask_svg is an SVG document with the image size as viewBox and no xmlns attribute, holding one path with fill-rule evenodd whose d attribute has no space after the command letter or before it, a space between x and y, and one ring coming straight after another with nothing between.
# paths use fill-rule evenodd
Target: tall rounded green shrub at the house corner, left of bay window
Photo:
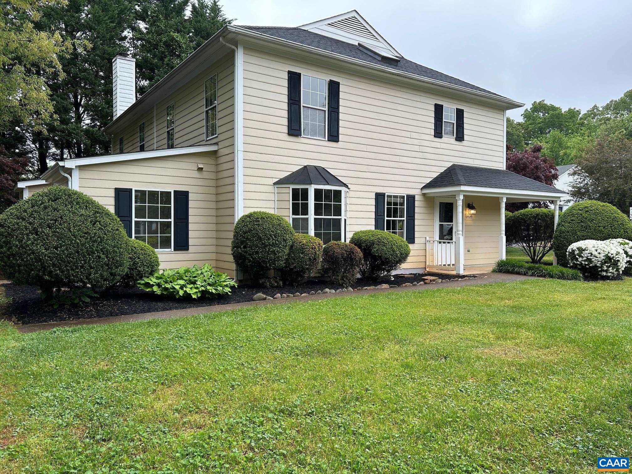
<instances>
[{"instance_id":1,"label":"tall rounded green shrub at the house corner, left of bay window","mask_svg":"<svg viewBox=\"0 0 632 474\"><path fill-rule=\"evenodd\" d=\"M231 253L235 264L258 283L269 270L283 268L294 229L281 216L255 210L235 224Z\"/></svg>"}]
</instances>

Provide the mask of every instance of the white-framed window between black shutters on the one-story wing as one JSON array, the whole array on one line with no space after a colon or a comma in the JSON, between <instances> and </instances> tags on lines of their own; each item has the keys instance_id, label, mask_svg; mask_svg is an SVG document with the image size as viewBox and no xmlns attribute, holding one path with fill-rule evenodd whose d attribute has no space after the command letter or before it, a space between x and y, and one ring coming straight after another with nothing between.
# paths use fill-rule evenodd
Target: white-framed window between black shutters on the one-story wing
<instances>
[{"instance_id":1,"label":"white-framed window between black shutters on the one-story wing","mask_svg":"<svg viewBox=\"0 0 632 474\"><path fill-rule=\"evenodd\" d=\"M135 189L132 238L158 252L173 250L173 191Z\"/></svg>"}]
</instances>

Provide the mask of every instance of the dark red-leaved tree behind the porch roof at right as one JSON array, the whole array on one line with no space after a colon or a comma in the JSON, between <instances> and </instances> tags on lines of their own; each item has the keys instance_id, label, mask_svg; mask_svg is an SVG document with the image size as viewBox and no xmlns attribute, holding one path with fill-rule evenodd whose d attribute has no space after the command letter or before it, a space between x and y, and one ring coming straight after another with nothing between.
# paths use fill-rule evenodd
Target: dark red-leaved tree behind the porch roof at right
<instances>
[{"instance_id":1,"label":"dark red-leaved tree behind the porch roof at right","mask_svg":"<svg viewBox=\"0 0 632 474\"><path fill-rule=\"evenodd\" d=\"M552 186L557 180L557 168L553 161L540 155L542 145L536 143L523 152L517 152L507 145L507 169L526 178L535 179L545 185ZM527 207L549 207L547 201L511 202L507 203L509 212L526 209Z\"/></svg>"}]
</instances>

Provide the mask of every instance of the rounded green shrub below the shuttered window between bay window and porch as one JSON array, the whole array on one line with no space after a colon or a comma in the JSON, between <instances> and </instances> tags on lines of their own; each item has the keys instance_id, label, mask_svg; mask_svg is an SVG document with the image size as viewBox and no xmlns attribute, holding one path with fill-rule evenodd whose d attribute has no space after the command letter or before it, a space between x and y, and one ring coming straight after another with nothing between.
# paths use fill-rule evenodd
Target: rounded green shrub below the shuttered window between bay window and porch
<instances>
[{"instance_id":1,"label":"rounded green shrub below the shuttered window between bay window and porch","mask_svg":"<svg viewBox=\"0 0 632 474\"><path fill-rule=\"evenodd\" d=\"M358 231L349 240L364 257L360 275L377 281L401 267L410 255L410 245L398 235L386 231Z\"/></svg>"}]
</instances>

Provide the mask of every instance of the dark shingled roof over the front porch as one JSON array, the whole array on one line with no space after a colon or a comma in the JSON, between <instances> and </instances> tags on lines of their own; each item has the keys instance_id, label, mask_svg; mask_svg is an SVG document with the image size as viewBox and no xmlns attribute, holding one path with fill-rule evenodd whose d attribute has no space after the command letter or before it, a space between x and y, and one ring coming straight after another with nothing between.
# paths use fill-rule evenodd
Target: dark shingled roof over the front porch
<instances>
[{"instance_id":1,"label":"dark shingled roof over the front porch","mask_svg":"<svg viewBox=\"0 0 632 474\"><path fill-rule=\"evenodd\" d=\"M545 185L535 179L526 178L506 169L484 168L452 164L432 178L422 190L444 188L447 186L480 186L483 188L502 188L524 191L561 192L553 186Z\"/></svg>"}]
</instances>

